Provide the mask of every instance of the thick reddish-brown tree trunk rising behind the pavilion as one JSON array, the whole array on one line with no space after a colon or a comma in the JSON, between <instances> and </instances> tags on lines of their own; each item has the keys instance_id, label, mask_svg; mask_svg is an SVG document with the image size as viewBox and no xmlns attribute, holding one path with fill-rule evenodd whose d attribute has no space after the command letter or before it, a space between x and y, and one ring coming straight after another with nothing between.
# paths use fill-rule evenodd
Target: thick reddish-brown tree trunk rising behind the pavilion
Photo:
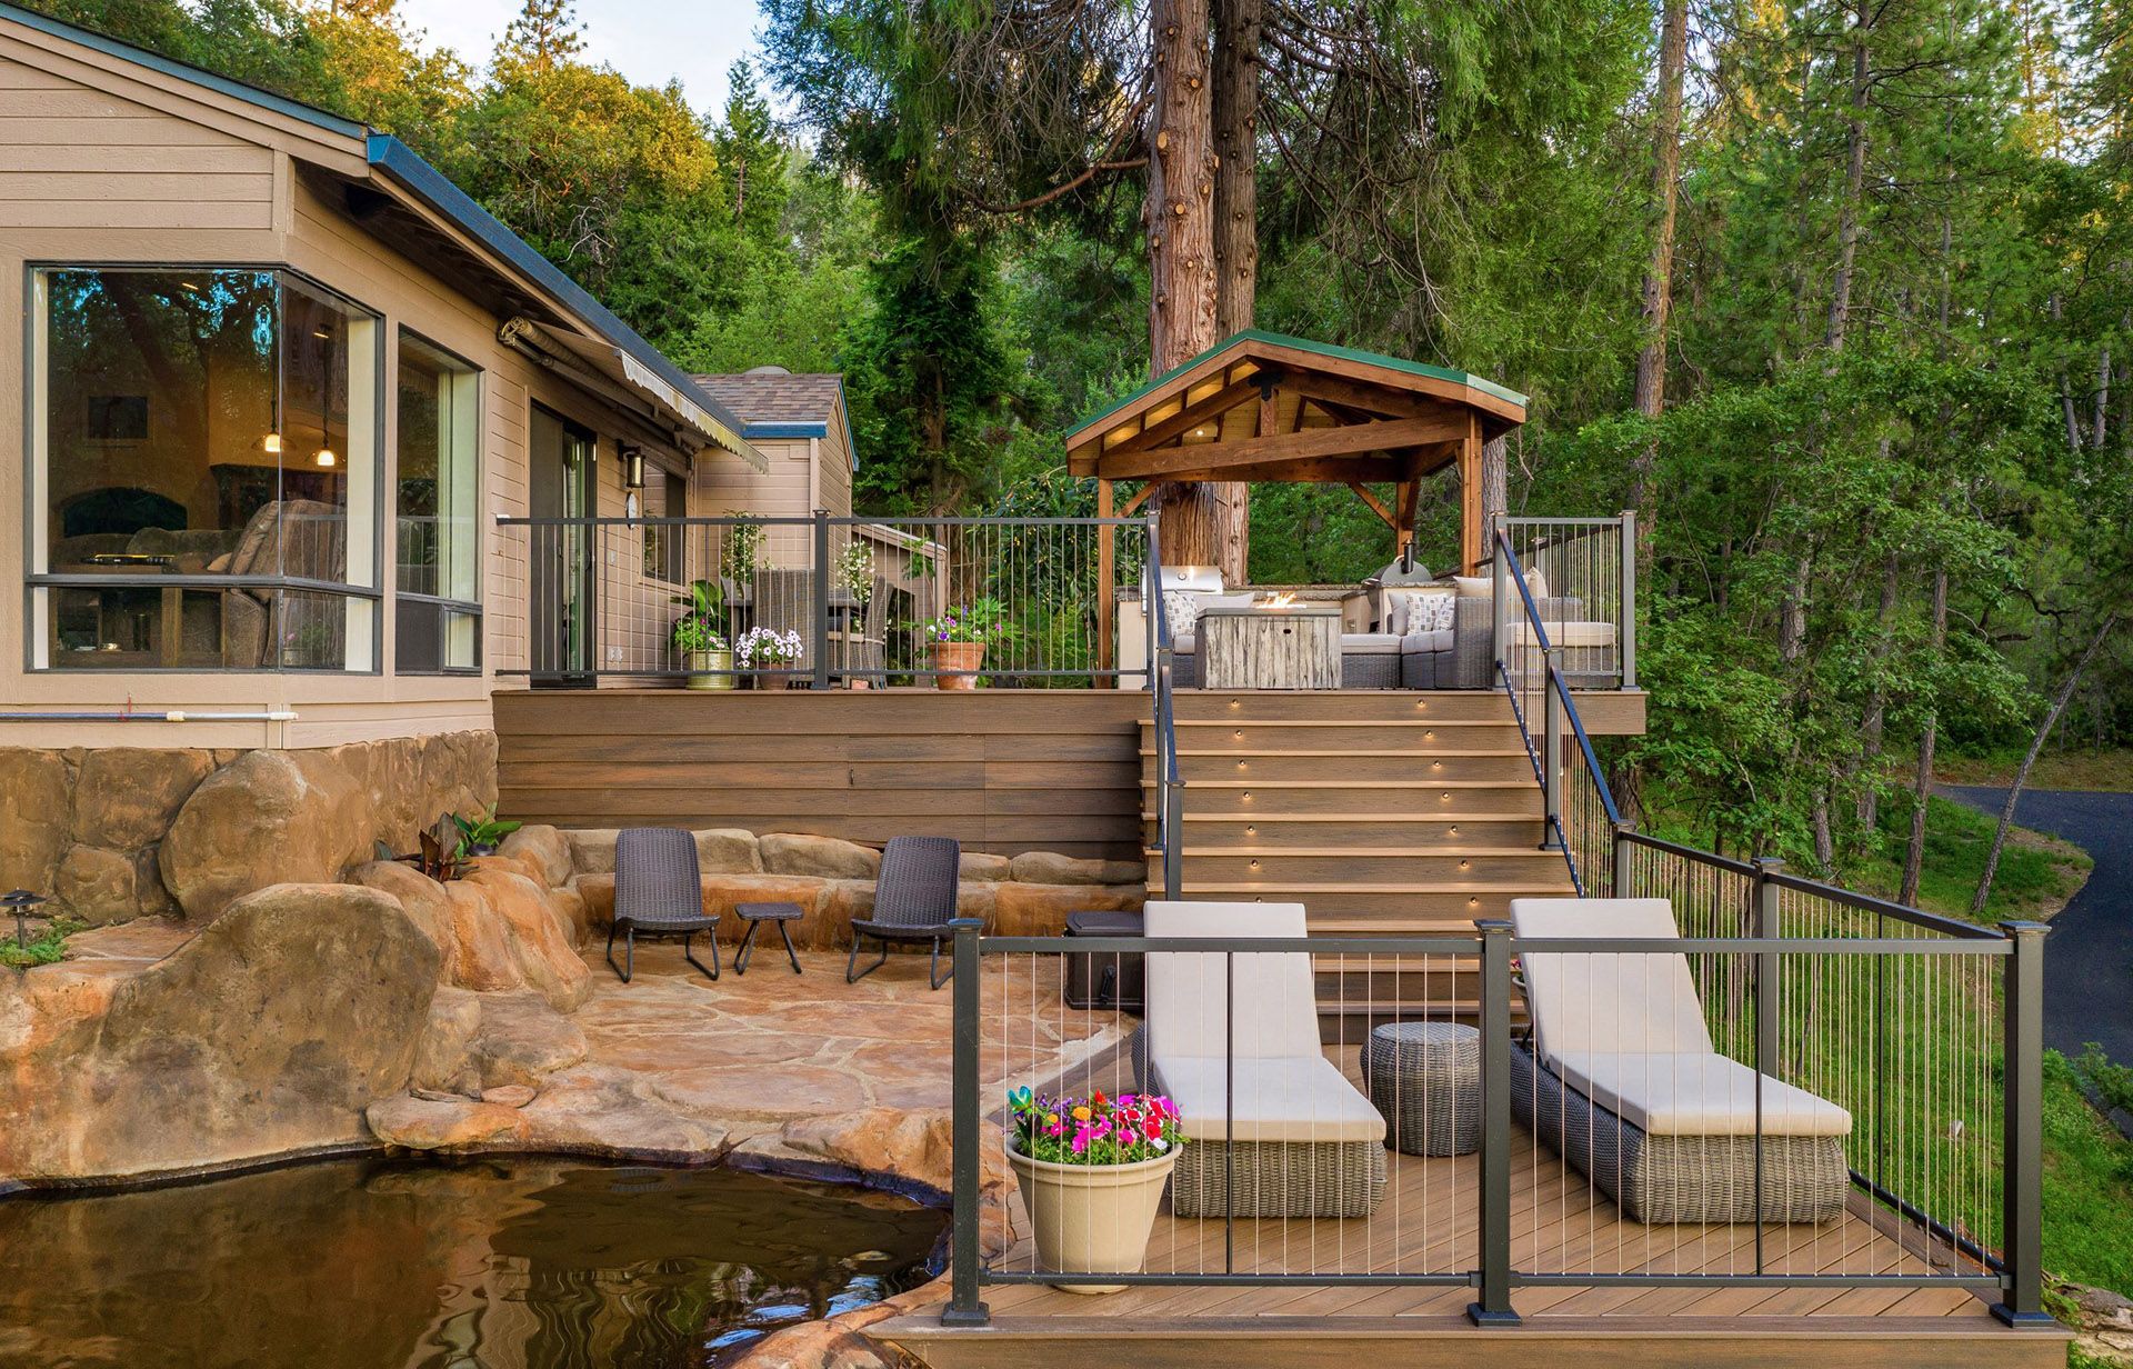
<instances>
[{"instance_id":1,"label":"thick reddish-brown tree trunk rising behind the pavilion","mask_svg":"<svg viewBox=\"0 0 2133 1369\"><path fill-rule=\"evenodd\" d=\"M1205 0L1154 0L1150 9L1156 98L1148 115L1148 367L1154 375L1218 339L1214 260L1214 122ZM1216 565L1244 576L1244 510L1231 516L1220 486L1167 484L1162 561Z\"/></svg>"}]
</instances>

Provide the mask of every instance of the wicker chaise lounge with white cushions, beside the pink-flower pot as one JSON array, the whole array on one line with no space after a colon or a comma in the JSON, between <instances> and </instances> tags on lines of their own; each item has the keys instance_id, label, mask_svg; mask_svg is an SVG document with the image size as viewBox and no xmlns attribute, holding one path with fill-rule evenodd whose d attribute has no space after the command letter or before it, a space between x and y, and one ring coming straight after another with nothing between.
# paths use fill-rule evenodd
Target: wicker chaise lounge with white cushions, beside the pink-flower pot
<instances>
[{"instance_id":1,"label":"wicker chaise lounge with white cushions, beside the pink-flower pot","mask_svg":"<svg viewBox=\"0 0 2133 1369\"><path fill-rule=\"evenodd\" d=\"M1148 904L1148 936L1295 936L1303 904ZM1312 957L1216 951L1148 957L1143 1088L1169 1094L1186 1145L1182 1218L1367 1218L1384 1198L1384 1117L1318 1043ZM1231 1132L1235 1120L1235 1132ZM1235 1149L1235 1203L1231 1151Z\"/></svg>"}]
</instances>

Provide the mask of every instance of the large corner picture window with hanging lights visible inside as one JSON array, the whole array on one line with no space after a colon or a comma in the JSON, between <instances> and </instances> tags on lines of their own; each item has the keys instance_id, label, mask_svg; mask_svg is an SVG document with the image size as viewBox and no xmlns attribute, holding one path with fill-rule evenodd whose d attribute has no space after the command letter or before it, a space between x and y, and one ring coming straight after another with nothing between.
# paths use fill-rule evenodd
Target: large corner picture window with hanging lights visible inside
<instances>
[{"instance_id":1,"label":"large corner picture window with hanging lights visible inside","mask_svg":"<svg viewBox=\"0 0 2133 1369\"><path fill-rule=\"evenodd\" d=\"M288 271L34 296L32 665L371 670L378 318Z\"/></svg>"}]
</instances>

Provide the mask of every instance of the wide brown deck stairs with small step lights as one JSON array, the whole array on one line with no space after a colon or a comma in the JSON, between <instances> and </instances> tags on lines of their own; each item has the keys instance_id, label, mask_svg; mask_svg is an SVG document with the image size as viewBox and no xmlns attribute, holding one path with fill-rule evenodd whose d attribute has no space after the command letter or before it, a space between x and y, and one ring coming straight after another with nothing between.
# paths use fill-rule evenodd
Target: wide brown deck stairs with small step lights
<instances>
[{"instance_id":1,"label":"wide brown deck stairs with small step lights","mask_svg":"<svg viewBox=\"0 0 2133 1369\"><path fill-rule=\"evenodd\" d=\"M1180 691L1184 896L1301 902L1314 936L1472 934L1521 896L1572 893L1502 693ZM1141 729L1148 840L1154 725ZM1150 883L1160 866L1150 851ZM1470 957L1318 957L1327 1041L1478 1013Z\"/></svg>"}]
</instances>

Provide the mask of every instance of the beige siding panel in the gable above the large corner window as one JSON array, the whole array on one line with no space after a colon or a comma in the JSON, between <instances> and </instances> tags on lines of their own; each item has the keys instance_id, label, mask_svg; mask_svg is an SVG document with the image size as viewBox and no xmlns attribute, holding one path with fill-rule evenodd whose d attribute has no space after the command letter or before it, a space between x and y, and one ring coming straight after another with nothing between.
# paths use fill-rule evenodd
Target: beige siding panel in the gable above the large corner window
<instances>
[{"instance_id":1,"label":"beige siding panel in the gable above the large corner window","mask_svg":"<svg viewBox=\"0 0 2133 1369\"><path fill-rule=\"evenodd\" d=\"M269 228L273 158L0 49L0 228Z\"/></svg>"}]
</instances>

